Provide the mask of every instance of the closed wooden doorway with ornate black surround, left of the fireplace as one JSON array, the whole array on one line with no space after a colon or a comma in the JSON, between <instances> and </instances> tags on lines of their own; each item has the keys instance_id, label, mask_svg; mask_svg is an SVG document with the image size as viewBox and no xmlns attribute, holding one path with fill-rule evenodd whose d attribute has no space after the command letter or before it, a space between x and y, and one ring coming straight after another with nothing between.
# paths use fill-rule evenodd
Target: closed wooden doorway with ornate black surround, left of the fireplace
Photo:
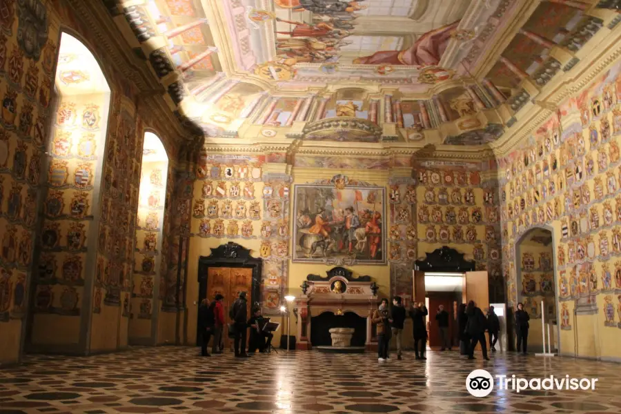
<instances>
[{"instance_id":1,"label":"closed wooden doorway with ornate black surround, left of the fireplace","mask_svg":"<svg viewBox=\"0 0 621 414\"><path fill-rule=\"evenodd\" d=\"M196 306L203 299L212 301L218 293L224 296L224 347L230 348L228 338L228 310L240 292L248 293L248 318L253 307L259 305L262 260L250 256L250 250L237 243L228 242L211 250L211 255L199 257L199 297ZM197 324L197 346L201 336Z\"/></svg>"}]
</instances>

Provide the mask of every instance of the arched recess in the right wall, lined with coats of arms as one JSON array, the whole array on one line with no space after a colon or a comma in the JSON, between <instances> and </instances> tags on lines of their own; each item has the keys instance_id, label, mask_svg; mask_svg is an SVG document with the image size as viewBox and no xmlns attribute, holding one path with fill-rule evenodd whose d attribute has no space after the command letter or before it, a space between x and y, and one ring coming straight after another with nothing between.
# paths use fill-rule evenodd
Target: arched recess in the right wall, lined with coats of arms
<instances>
[{"instance_id":1,"label":"arched recess in the right wall, lined with coats of arms","mask_svg":"<svg viewBox=\"0 0 621 414\"><path fill-rule=\"evenodd\" d=\"M517 264L517 302L529 313L529 351L540 352L544 331L546 348L548 331L552 351L558 350L558 303L555 295L554 250L552 232L533 228L515 245ZM543 304L543 311L542 311ZM569 314L569 313L568 313ZM543 315L543 317L542 317ZM569 319L569 317L567 318ZM546 351L547 352L547 351Z\"/></svg>"}]
</instances>

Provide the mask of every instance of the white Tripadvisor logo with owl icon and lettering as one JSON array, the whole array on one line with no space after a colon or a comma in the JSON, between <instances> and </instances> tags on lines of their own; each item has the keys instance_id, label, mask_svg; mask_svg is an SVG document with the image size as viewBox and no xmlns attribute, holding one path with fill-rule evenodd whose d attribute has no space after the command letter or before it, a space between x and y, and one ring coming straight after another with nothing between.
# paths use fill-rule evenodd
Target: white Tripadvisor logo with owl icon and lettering
<instances>
[{"instance_id":1,"label":"white Tripadvisor logo with owl icon and lettering","mask_svg":"<svg viewBox=\"0 0 621 414\"><path fill-rule=\"evenodd\" d=\"M573 378L569 375L555 377L550 375L544 378L518 378L515 375L496 375L498 380L497 388L500 390L511 390L520 393L525 390L567 390L576 391L594 390L598 378ZM466 390L474 397L486 397L494 389L494 377L484 369L472 371L466 378Z\"/></svg>"}]
</instances>

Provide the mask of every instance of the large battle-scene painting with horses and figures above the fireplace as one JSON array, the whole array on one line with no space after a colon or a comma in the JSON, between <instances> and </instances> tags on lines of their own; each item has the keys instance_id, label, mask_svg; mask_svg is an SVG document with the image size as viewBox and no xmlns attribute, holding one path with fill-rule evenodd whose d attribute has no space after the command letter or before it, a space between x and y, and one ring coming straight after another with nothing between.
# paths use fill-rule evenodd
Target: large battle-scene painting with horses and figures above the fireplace
<instances>
[{"instance_id":1,"label":"large battle-scene painting with horses and figures above the fireplace","mask_svg":"<svg viewBox=\"0 0 621 414\"><path fill-rule=\"evenodd\" d=\"M384 187L337 175L293 191L293 262L386 263Z\"/></svg>"}]
</instances>

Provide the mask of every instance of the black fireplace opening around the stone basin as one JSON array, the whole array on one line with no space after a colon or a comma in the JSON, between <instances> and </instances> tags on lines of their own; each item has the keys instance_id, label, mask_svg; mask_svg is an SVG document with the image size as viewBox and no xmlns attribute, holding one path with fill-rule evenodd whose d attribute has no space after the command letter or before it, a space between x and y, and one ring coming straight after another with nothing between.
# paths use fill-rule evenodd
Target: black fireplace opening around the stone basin
<instances>
[{"instance_id":1,"label":"black fireplace opening around the stone basin","mask_svg":"<svg viewBox=\"0 0 621 414\"><path fill-rule=\"evenodd\" d=\"M332 328L353 328L351 346L364 346L366 342L366 317L353 312L335 315L334 312L326 311L311 317L311 345L332 346Z\"/></svg>"}]
</instances>

